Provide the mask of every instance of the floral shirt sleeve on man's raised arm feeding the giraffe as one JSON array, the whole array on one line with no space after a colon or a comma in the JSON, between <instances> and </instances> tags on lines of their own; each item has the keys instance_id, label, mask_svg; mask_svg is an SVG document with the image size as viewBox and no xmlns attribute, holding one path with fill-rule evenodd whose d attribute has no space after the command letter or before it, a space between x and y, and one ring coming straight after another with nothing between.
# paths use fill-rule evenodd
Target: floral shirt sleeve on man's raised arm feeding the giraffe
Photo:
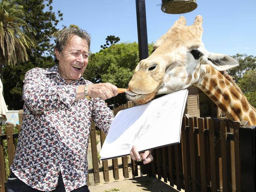
<instances>
[{"instance_id":1,"label":"floral shirt sleeve on man's raised arm feeding the giraffe","mask_svg":"<svg viewBox=\"0 0 256 192\"><path fill-rule=\"evenodd\" d=\"M46 83L45 74L33 68L25 75L22 99L35 113L64 109L75 101L77 89L78 85Z\"/></svg>"}]
</instances>

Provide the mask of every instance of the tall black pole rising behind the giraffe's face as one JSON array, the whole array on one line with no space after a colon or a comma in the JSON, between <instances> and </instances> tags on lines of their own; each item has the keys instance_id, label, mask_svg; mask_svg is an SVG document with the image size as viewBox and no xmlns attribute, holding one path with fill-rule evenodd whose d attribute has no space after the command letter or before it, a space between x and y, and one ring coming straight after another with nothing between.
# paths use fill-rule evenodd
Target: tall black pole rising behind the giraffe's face
<instances>
[{"instance_id":1,"label":"tall black pole rising behind the giraffe's face","mask_svg":"<svg viewBox=\"0 0 256 192\"><path fill-rule=\"evenodd\" d=\"M136 1L139 61L148 57L148 35L145 0Z\"/></svg>"}]
</instances>

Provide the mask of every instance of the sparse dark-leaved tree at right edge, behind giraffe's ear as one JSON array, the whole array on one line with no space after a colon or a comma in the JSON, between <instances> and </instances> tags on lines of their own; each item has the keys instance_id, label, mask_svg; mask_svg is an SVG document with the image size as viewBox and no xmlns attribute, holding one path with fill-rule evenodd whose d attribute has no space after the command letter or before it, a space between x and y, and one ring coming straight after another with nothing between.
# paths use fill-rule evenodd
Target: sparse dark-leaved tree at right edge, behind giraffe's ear
<instances>
[{"instance_id":1,"label":"sparse dark-leaved tree at right edge, behind giraffe's ear","mask_svg":"<svg viewBox=\"0 0 256 192\"><path fill-rule=\"evenodd\" d=\"M254 70L256 68L256 57L247 54L236 54L232 56L239 63L239 66L231 68L228 70L228 73L234 78L237 82L243 77L245 72L249 70Z\"/></svg>"}]
</instances>

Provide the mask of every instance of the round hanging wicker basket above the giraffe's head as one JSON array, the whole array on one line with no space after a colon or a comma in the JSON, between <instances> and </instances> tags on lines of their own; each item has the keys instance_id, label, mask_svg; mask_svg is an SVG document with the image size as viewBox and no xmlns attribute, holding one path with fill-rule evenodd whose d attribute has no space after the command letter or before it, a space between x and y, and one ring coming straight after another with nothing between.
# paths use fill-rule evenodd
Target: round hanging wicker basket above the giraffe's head
<instances>
[{"instance_id":1,"label":"round hanging wicker basket above the giraffe's head","mask_svg":"<svg viewBox=\"0 0 256 192\"><path fill-rule=\"evenodd\" d=\"M161 10L170 14L188 13L196 8L196 0L162 0L161 5Z\"/></svg>"}]
</instances>

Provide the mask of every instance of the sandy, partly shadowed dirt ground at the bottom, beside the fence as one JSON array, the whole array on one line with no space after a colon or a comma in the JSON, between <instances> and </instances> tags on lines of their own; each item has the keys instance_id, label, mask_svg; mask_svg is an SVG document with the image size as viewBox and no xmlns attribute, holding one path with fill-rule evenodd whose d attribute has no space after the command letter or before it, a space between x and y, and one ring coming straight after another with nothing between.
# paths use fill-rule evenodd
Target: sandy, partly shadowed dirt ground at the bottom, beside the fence
<instances>
[{"instance_id":1,"label":"sandy, partly shadowed dirt ground at the bottom, beside the fence","mask_svg":"<svg viewBox=\"0 0 256 192\"><path fill-rule=\"evenodd\" d=\"M89 186L89 190L91 192L179 192L167 183L148 176L92 185Z\"/></svg>"}]
</instances>

